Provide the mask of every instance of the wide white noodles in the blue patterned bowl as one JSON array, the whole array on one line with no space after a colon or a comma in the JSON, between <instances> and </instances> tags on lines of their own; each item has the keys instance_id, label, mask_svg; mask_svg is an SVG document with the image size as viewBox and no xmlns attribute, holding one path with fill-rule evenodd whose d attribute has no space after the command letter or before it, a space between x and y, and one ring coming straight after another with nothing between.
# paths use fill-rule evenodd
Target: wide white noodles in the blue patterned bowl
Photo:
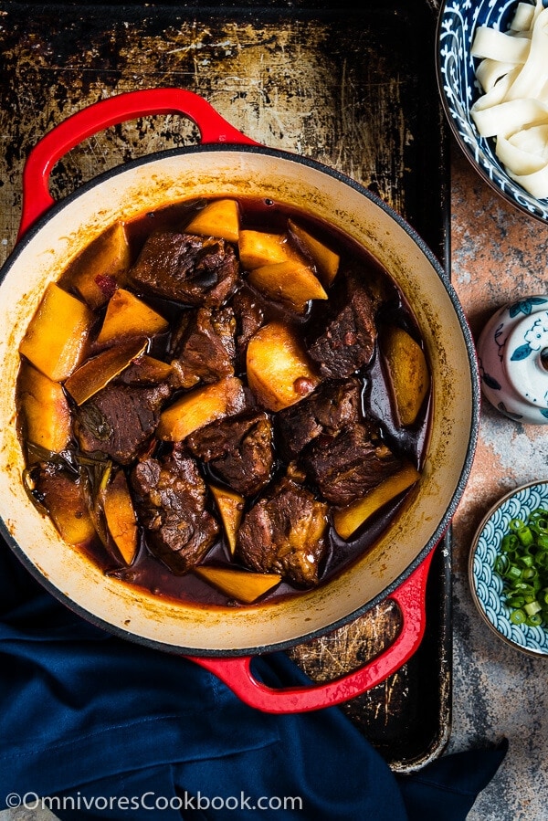
<instances>
[{"instance_id":1,"label":"wide white noodles in the blue patterned bowl","mask_svg":"<svg viewBox=\"0 0 548 821\"><path fill-rule=\"evenodd\" d=\"M485 93L470 115L495 140L507 174L538 199L548 197L548 8L520 3L510 33L479 26L472 54Z\"/></svg>"}]
</instances>

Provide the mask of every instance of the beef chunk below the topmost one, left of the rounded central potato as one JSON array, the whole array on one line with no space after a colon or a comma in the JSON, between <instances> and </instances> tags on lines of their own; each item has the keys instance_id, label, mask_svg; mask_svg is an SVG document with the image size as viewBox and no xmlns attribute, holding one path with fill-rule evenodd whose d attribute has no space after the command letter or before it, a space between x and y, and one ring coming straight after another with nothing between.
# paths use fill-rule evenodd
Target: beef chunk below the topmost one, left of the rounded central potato
<instances>
[{"instance_id":1,"label":"beef chunk below the topmost one, left of the rounded central potato","mask_svg":"<svg viewBox=\"0 0 548 821\"><path fill-rule=\"evenodd\" d=\"M170 354L174 357L174 385L191 388L217 382L234 374L236 320L230 308L184 311L174 330Z\"/></svg>"}]
</instances>

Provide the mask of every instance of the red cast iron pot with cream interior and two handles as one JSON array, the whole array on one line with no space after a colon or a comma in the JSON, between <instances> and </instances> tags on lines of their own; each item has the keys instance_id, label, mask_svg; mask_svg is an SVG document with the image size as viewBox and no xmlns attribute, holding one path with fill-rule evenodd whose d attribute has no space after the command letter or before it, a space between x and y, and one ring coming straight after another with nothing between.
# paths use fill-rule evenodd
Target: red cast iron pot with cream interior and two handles
<instances>
[{"instance_id":1,"label":"red cast iron pot with cream interior and two handles","mask_svg":"<svg viewBox=\"0 0 548 821\"><path fill-rule=\"evenodd\" d=\"M201 133L198 146L121 165L53 202L50 171L79 142L121 121L177 112L195 121ZM182 89L122 94L62 122L29 155L23 191L19 242L0 285L0 512L6 541L30 572L81 616L120 637L195 658L258 709L312 710L348 700L384 680L422 638L428 565L465 487L478 429L473 342L436 258L400 216L360 184L319 163L249 140L205 100ZM207 609L176 604L106 578L82 553L60 542L21 481L17 352L47 284L116 221L207 196L269 197L331 223L367 247L405 293L432 374L427 458L394 523L371 551L329 584L271 605ZM310 688L271 690L254 679L254 655L331 631L387 596L402 611L401 633L364 668Z\"/></svg>"}]
</instances>

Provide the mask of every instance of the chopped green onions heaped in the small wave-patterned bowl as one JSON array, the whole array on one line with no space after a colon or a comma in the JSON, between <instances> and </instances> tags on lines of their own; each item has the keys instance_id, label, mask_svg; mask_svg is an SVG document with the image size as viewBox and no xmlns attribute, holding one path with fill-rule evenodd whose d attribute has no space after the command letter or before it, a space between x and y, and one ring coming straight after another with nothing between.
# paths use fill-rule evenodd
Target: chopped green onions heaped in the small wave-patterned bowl
<instances>
[{"instance_id":1,"label":"chopped green onions heaped in the small wave-patterned bowl","mask_svg":"<svg viewBox=\"0 0 548 821\"><path fill-rule=\"evenodd\" d=\"M548 627L548 510L510 521L494 571L502 579L511 623Z\"/></svg>"}]
</instances>

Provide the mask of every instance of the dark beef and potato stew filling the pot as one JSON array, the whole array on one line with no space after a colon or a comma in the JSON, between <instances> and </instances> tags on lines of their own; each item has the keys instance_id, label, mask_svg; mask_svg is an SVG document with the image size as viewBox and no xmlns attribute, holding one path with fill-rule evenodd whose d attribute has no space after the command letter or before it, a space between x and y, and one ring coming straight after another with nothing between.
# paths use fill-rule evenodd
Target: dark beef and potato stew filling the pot
<instances>
[{"instance_id":1,"label":"dark beef and potato stew filling the pot","mask_svg":"<svg viewBox=\"0 0 548 821\"><path fill-rule=\"evenodd\" d=\"M114 226L50 286L20 353L31 498L156 595L298 595L364 553L420 476L429 377L406 300L364 248L270 200Z\"/></svg>"}]
</instances>

